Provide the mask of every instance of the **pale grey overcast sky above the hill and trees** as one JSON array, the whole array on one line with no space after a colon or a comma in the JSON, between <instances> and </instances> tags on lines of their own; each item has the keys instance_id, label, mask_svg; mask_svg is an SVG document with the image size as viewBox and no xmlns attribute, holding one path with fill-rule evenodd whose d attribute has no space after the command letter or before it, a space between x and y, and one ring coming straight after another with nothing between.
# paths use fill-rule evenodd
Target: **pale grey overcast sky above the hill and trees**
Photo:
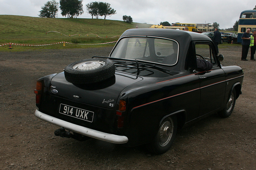
<instances>
[{"instance_id":1,"label":"pale grey overcast sky above the hill and trees","mask_svg":"<svg viewBox=\"0 0 256 170\"><path fill-rule=\"evenodd\" d=\"M0 0L0 15L38 17L41 6L48 0ZM84 14L78 18L91 18L86 11L90 2L108 2L116 14L108 20L121 20L131 16L133 22L160 24L160 22L213 23L220 28L232 28L244 10L253 9L255 0L83 0ZM56 0L56 2L60 2ZM58 11L58 18L64 18ZM104 19L103 17L100 17ZM1 23L0 23L1 24Z\"/></svg>"}]
</instances>

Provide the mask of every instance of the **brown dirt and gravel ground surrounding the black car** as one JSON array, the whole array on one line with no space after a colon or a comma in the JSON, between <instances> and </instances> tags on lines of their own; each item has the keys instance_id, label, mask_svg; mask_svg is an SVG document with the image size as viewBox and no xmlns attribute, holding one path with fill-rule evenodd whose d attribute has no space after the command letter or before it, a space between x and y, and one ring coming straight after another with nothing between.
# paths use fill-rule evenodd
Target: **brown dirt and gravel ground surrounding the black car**
<instances>
[{"instance_id":1,"label":"brown dirt and gravel ground surrounding the black car","mask_svg":"<svg viewBox=\"0 0 256 170\"><path fill-rule=\"evenodd\" d=\"M256 61L241 61L241 46L235 44L219 50L222 64L244 69L242 95L232 115L212 115L179 130L165 154L151 154L142 146L54 136L58 127L34 116L36 80L61 72L73 61L108 56L111 49L0 52L0 169L255 169Z\"/></svg>"}]
</instances>

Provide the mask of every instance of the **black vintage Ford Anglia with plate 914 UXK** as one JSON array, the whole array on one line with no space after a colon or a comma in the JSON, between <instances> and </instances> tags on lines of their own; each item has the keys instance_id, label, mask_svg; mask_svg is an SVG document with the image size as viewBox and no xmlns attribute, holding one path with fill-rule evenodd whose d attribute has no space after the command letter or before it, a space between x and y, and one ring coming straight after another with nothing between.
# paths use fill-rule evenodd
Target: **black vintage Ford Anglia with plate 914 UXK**
<instances>
[{"instance_id":1,"label":"black vintage Ford Anglia with plate 914 UXK","mask_svg":"<svg viewBox=\"0 0 256 170\"><path fill-rule=\"evenodd\" d=\"M211 114L229 117L244 73L220 64L210 38L195 32L125 31L109 57L75 61L36 83L36 117L56 136L145 144L162 154L178 128ZM201 69L197 61L212 67Z\"/></svg>"}]
</instances>

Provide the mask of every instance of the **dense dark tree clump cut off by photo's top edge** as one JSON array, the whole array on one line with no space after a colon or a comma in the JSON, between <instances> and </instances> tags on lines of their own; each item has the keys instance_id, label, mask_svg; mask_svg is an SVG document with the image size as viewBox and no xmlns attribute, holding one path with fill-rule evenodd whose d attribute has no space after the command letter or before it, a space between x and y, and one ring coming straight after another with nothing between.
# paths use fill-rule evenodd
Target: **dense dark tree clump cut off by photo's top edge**
<instances>
[{"instance_id":1,"label":"dense dark tree clump cut off by photo's top edge","mask_svg":"<svg viewBox=\"0 0 256 170\"><path fill-rule=\"evenodd\" d=\"M83 0L60 0L60 10L62 16L74 18L84 13Z\"/></svg>"}]
</instances>

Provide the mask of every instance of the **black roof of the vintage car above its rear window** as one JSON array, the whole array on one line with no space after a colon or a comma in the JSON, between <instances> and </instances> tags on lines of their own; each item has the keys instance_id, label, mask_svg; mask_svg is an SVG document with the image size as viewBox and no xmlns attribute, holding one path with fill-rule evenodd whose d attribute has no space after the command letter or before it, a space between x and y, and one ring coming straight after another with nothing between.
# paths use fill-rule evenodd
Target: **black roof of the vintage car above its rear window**
<instances>
[{"instance_id":1,"label":"black roof of the vintage car above its rear window","mask_svg":"<svg viewBox=\"0 0 256 170\"><path fill-rule=\"evenodd\" d=\"M134 28L126 30L120 38L125 36L152 36L162 37L176 40L178 42L191 41L191 40L211 40L203 34L196 32L173 30L168 28Z\"/></svg>"}]
</instances>

